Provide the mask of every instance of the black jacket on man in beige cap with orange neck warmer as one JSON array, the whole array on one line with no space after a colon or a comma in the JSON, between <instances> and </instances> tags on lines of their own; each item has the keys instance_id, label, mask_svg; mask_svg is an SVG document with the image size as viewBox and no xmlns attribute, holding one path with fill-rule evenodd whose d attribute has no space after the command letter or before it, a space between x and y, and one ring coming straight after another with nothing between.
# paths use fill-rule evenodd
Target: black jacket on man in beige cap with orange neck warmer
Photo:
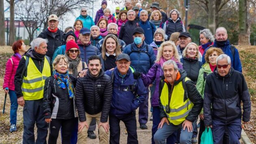
<instances>
[{"instance_id":1,"label":"black jacket on man in beige cap with orange neck warmer","mask_svg":"<svg viewBox=\"0 0 256 144\"><path fill-rule=\"evenodd\" d=\"M55 34L53 34L48 29L46 29L45 31L41 32L38 36L39 38L48 39L48 43L47 43L48 52L46 52L46 56L49 56L51 60L57 47L64 45L63 31L58 29L58 31Z\"/></svg>"}]
</instances>

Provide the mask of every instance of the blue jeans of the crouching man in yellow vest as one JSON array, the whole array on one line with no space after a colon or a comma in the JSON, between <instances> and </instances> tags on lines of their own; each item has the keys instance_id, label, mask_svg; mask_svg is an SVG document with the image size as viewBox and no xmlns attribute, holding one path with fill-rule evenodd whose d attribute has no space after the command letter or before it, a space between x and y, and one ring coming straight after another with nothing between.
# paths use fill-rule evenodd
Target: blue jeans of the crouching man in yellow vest
<instances>
[{"instance_id":1,"label":"blue jeans of the crouching man in yellow vest","mask_svg":"<svg viewBox=\"0 0 256 144\"><path fill-rule=\"evenodd\" d=\"M182 127L182 123L180 125L167 125L164 123L162 129L158 129L154 135L154 140L156 144L166 144L165 140L169 135L177 131L180 127ZM192 123L193 129L196 128L196 122ZM191 144L191 138L193 135L193 131L189 132L186 128L185 130L181 130L180 132L180 144Z\"/></svg>"}]
</instances>

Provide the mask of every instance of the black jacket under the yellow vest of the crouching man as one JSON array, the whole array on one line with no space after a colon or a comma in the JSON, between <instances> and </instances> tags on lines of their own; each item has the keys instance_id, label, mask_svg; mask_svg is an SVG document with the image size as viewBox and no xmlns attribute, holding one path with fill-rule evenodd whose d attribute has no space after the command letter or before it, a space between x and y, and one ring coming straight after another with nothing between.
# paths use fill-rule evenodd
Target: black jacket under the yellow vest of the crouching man
<instances>
[{"instance_id":1,"label":"black jacket under the yellow vest of the crouching man","mask_svg":"<svg viewBox=\"0 0 256 144\"><path fill-rule=\"evenodd\" d=\"M180 72L180 79L178 81L174 82L174 86L176 86L178 83L182 82L182 80L184 78L187 77L186 71L179 69ZM164 79L164 77L163 77ZM162 93L162 82L160 81L159 84L159 97L161 96ZM195 84L191 81L191 80L187 80L185 82L186 86L187 86L187 90L188 90L188 96L190 101L194 104L194 106L192 107L192 110L189 112L189 115L186 117L186 120L189 120L190 122L194 122L198 115L200 114L202 107L203 107L203 99L200 95L200 93L197 91ZM171 89L171 84L168 84L168 89ZM184 92L184 101L187 100L186 94ZM163 117L167 117L165 111L163 110L163 105L161 103L161 100L159 98L159 107L160 107L160 118L162 119Z\"/></svg>"}]
</instances>

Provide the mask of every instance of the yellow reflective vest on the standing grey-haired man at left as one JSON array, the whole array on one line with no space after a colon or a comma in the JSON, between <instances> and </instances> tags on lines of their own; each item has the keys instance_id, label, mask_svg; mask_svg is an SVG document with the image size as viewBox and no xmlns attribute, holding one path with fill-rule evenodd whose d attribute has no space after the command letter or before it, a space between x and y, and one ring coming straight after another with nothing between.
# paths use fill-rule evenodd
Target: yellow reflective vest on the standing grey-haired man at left
<instances>
[{"instance_id":1,"label":"yellow reflective vest on the standing grey-haired man at left","mask_svg":"<svg viewBox=\"0 0 256 144\"><path fill-rule=\"evenodd\" d=\"M24 56L26 60L26 56ZM29 57L27 76L23 76L22 94L25 100L37 100L43 98L43 86L47 77L51 76L50 64L44 58L42 73L37 69L32 58Z\"/></svg>"}]
</instances>

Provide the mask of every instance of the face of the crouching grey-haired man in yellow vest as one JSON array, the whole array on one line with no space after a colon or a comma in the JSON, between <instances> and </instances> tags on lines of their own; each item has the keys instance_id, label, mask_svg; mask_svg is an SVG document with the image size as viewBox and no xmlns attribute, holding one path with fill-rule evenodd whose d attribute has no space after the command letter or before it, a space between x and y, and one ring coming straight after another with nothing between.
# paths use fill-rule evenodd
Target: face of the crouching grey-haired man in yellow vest
<instances>
[{"instance_id":1,"label":"face of the crouching grey-haired man in yellow vest","mask_svg":"<svg viewBox=\"0 0 256 144\"><path fill-rule=\"evenodd\" d=\"M164 76L165 76L165 79L167 80L167 82L169 82L171 85L173 85L174 81L176 80L178 70L174 69L173 64L169 64L169 65L164 65L163 72L164 72Z\"/></svg>"}]
</instances>

